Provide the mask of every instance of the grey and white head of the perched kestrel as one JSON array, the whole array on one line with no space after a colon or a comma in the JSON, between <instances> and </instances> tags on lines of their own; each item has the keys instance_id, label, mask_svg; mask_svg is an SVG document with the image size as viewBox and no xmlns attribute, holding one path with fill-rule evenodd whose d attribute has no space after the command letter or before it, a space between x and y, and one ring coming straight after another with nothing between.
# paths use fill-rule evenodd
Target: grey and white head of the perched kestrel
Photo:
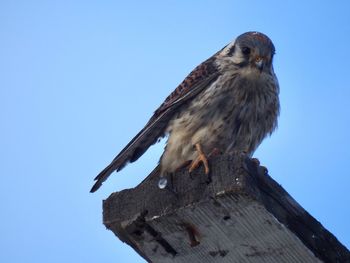
<instances>
[{"instance_id":1,"label":"grey and white head of the perched kestrel","mask_svg":"<svg viewBox=\"0 0 350 263\"><path fill-rule=\"evenodd\" d=\"M260 72L272 70L275 47L272 41L259 32L247 32L228 44L219 56L239 67L249 67Z\"/></svg>"}]
</instances>

